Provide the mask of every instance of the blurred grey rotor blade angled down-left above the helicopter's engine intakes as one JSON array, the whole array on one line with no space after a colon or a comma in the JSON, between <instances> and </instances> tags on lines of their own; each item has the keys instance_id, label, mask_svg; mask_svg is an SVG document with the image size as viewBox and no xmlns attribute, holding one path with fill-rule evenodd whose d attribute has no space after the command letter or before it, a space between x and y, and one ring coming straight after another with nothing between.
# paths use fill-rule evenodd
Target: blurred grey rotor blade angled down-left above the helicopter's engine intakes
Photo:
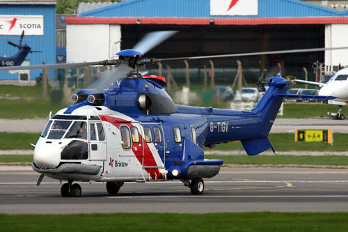
<instances>
[{"instance_id":1,"label":"blurred grey rotor blade angled down-left above the helicopter's engine intakes","mask_svg":"<svg viewBox=\"0 0 348 232\"><path fill-rule=\"evenodd\" d=\"M128 65L123 63L118 67L113 68L113 70L102 76L100 79L97 79L97 81L90 84L90 86L88 86L87 88L95 89L95 93L100 93L104 89L108 88L113 82L123 79L133 71L133 68L130 68Z\"/></svg>"}]
</instances>

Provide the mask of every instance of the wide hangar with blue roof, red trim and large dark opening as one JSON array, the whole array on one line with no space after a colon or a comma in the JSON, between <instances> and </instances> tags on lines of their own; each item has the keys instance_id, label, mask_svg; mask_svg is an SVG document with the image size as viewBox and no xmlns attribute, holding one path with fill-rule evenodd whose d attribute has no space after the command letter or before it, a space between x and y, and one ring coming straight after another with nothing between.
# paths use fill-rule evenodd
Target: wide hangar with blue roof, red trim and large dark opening
<instances>
[{"instance_id":1,"label":"wide hangar with blue roof, red trim and large dark opening","mask_svg":"<svg viewBox=\"0 0 348 232\"><path fill-rule=\"evenodd\" d=\"M147 57L348 47L348 10L298 0L128 0L62 20L67 24L68 62L111 58L120 49L132 48L145 33L168 29L180 33ZM296 75L320 61L329 74L339 63L348 65L345 54L347 49L269 56L265 67L280 62L286 75ZM241 60L244 67L258 68L260 59ZM225 59L216 65L236 63Z\"/></svg>"}]
</instances>

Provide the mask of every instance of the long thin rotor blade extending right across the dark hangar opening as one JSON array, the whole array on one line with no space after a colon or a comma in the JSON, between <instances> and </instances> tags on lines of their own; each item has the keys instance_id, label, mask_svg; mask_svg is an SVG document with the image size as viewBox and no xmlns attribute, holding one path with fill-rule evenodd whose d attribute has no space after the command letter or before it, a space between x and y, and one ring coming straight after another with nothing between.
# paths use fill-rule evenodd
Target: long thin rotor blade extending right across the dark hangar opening
<instances>
[{"instance_id":1,"label":"long thin rotor blade extending right across the dark hangar opening","mask_svg":"<svg viewBox=\"0 0 348 232\"><path fill-rule=\"evenodd\" d=\"M336 49L348 49L348 47L319 47L310 49L292 49L292 50L280 50L270 52L248 52L248 53L236 53L236 54L223 54L213 56L187 56L178 58L167 58L167 59L145 59L139 62L139 65L166 62L166 61L183 61L183 60L199 60L199 59L216 59L216 58L228 58L228 57L239 57L239 56L260 56L260 55L271 55L271 54L290 54L290 53L301 53L301 52L323 52L326 50Z\"/></svg>"}]
</instances>

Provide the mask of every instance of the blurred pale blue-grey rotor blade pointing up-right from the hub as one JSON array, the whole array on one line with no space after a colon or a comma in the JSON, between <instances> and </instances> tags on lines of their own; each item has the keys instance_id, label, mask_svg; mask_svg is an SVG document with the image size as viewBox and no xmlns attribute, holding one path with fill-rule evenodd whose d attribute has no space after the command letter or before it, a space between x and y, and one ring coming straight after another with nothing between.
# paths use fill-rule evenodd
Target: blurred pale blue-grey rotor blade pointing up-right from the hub
<instances>
[{"instance_id":1,"label":"blurred pale blue-grey rotor blade pointing up-right from the hub","mask_svg":"<svg viewBox=\"0 0 348 232\"><path fill-rule=\"evenodd\" d=\"M147 33L133 49L145 54L175 33L177 31L154 31Z\"/></svg>"}]
</instances>

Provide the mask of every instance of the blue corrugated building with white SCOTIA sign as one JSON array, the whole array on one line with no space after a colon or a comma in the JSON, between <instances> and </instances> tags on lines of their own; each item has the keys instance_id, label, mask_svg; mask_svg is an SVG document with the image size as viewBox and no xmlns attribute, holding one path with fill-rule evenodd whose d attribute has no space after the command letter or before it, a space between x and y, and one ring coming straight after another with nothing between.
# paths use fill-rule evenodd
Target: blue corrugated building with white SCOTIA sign
<instances>
[{"instance_id":1,"label":"blue corrugated building with white SCOTIA sign","mask_svg":"<svg viewBox=\"0 0 348 232\"><path fill-rule=\"evenodd\" d=\"M15 24L11 27L9 22ZM33 52L26 56L22 65L38 65L42 61L56 63L56 1L52 0L5 0L0 1L0 56L13 56L17 47L8 45L8 41L19 44L24 30L22 44L27 44ZM22 73L24 72L24 73ZM42 70L23 70L19 72L1 72L0 79L35 79ZM49 75L55 78L54 70Z\"/></svg>"}]
</instances>

